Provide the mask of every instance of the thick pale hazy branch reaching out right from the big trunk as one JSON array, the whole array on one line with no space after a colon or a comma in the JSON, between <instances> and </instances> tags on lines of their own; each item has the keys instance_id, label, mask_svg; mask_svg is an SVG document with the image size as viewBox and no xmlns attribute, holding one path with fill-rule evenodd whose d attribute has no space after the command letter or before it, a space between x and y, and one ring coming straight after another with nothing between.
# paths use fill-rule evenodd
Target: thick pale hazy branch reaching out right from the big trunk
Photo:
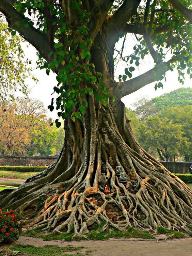
<instances>
[{"instance_id":1,"label":"thick pale hazy branch reaching out right from the big trunk","mask_svg":"<svg viewBox=\"0 0 192 256\"><path fill-rule=\"evenodd\" d=\"M178 60L179 58L181 58L181 56L175 57L167 62L161 62L154 68L138 77L132 78L125 82L118 82L117 87L114 90L114 94L117 98L122 98L141 89L143 86L149 83L157 81L159 76L163 75L166 71L171 69L170 63Z\"/></svg>"}]
</instances>

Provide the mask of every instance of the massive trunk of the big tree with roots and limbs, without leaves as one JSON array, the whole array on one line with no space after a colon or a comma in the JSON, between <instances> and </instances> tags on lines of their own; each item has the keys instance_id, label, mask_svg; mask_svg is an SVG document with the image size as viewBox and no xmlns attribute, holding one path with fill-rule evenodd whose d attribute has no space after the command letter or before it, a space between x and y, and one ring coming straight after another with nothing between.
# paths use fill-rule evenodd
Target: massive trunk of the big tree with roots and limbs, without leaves
<instances>
[{"instance_id":1,"label":"massive trunk of the big tree with roots and limbs, without leaves","mask_svg":"<svg viewBox=\"0 0 192 256\"><path fill-rule=\"evenodd\" d=\"M95 100L93 93L86 95L88 107L82 120L76 119L73 122L69 117L65 119L65 143L58 160L44 172L29 178L14 191L1 192L0 207L14 208L27 214L29 227L44 227L44 224L48 223L48 227L59 232L61 230L70 232L74 229L77 236L87 233L87 227L100 220L118 229L134 226L156 230L157 226L163 226L189 231L188 225L192 225L191 190L141 148L132 133L130 120L126 119L125 106L121 102L123 96L159 80L158 77L171 68L170 64L181 58L179 55L163 62L153 48L150 37L147 36L151 31L154 31L153 36L164 29L167 31L169 26L164 28L160 24L157 30L151 29L150 26L149 29L145 27L147 7L143 13L143 25L141 23L140 26L137 25L135 19L133 25L130 25L128 21L131 21L134 15L138 18L137 9L141 1L125 0L111 16L108 16L108 12L114 1L82 1L83 5L86 5L83 8L91 12L89 22L85 19L82 23L88 28L89 33L82 37L77 13L74 8L69 8L68 2L72 1L59 1L61 10L64 10L60 15L65 15L67 29L72 28L70 37L66 36L67 30L64 30L63 35L60 34L61 31L57 33L57 38L59 36L60 44L63 45L61 47L53 42L57 30L57 26L55 27L57 22L54 18L57 20L57 17L51 12L47 14L47 11L50 11L49 6L42 10L47 21L47 28L43 33L31 23L25 26L26 24L22 23L23 16L16 11L11 1L0 0L0 10L9 20L9 25L41 53L47 61L46 67L48 63L54 66L52 61L55 61L57 64L53 68L55 73L65 74L68 79L70 72L78 73L79 76L85 71L88 74L89 62L93 63L95 70L92 70L91 76L93 77L98 71L101 72L102 85L116 98L114 102L109 100L108 105L104 106ZM147 1L147 4L149 2ZM152 14L151 24L154 18ZM18 20L23 26L15 26ZM58 26L63 26L60 20ZM128 32L145 36L146 45L156 65L138 77L125 82L116 82L114 47L118 38ZM79 38L81 43L87 38L93 42L91 60L81 55L82 48L89 47L87 45L90 44L80 47L79 41L76 40L75 43L75 39ZM53 45L61 49L57 52L57 47L54 48ZM74 53L65 57L65 54L60 54L62 50L64 52L70 50ZM89 52L89 49L86 51ZM53 57L55 54L50 54L51 52L54 52L56 57ZM65 60L61 61L59 58L61 56L64 56ZM77 59L78 63L76 63ZM58 60L60 60L59 64ZM67 66L68 61L71 62L69 71L66 71L63 65ZM64 62L65 64L62 64ZM79 63L83 67L79 68L77 65ZM73 70L75 68L76 70ZM70 79L73 80L73 77ZM66 84L68 82L68 89L65 89L67 93L73 88L73 83L69 83L70 79L68 81L63 79ZM63 80L59 79L59 83ZM83 82L86 83L86 79ZM99 94L97 82L94 85L80 83L79 87L94 88L93 90ZM79 87L74 88L76 90ZM75 98L78 104L81 101L79 95L80 93L78 99ZM61 97L62 100L65 101ZM77 105L73 108L77 111Z\"/></svg>"}]
</instances>

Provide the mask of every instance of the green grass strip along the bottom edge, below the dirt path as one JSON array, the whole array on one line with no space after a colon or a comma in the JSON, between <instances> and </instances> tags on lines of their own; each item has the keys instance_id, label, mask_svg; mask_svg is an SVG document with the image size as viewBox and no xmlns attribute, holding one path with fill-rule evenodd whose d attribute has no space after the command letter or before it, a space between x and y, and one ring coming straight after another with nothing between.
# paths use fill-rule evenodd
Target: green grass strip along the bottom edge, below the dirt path
<instances>
[{"instance_id":1,"label":"green grass strip along the bottom edge, below the dirt path","mask_svg":"<svg viewBox=\"0 0 192 256\"><path fill-rule=\"evenodd\" d=\"M83 249L83 246L72 246L68 245L65 247L59 247L58 245L45 245L45 246L34 246L30 244L16 244L10 247L12 251L25 252L27 256L80 256L81 253L69 254L68 252L79 251Z\"/></svg>"}]
</instances>

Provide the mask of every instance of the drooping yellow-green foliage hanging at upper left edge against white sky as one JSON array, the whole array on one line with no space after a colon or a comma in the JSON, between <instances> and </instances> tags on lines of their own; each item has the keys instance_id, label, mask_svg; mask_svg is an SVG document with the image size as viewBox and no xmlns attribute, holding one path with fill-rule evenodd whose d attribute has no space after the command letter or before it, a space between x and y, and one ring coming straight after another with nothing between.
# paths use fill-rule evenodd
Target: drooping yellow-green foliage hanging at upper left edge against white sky
<instances>
[{"instance_id":1,"label":"drooping yellow-green foliage hanging at upper left edge against white sky","mask_svg":"<svg viewBox=\"0 0 192 256\"><path fill-rule=\"evenodd\" d=\"M14 35L14 36L13 36ZM24 58L22 37L10 32L5 18L0 17L0 99L13 98L16 90L26 94L26 78L32 75L31 61Z\"/></svg>"}]
</instances>

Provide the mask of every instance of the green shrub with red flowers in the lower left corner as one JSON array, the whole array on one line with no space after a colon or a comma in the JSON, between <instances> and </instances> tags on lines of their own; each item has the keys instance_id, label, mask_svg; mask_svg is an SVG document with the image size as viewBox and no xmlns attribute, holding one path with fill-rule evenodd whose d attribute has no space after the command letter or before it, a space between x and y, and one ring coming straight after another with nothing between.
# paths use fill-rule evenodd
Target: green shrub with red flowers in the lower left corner
<instances>
[{"instance_id":1,"label":"green shrub with red flowers in the lower left corner","mask_svg":"<svg viewBox=\"0 0 192 256\"><path fill-rule=\"evenodd\" d=\"M13 210L0 209L0 243L11 243L21 235L24 224L22 214Z\"/></svg>"}]
</instances>

